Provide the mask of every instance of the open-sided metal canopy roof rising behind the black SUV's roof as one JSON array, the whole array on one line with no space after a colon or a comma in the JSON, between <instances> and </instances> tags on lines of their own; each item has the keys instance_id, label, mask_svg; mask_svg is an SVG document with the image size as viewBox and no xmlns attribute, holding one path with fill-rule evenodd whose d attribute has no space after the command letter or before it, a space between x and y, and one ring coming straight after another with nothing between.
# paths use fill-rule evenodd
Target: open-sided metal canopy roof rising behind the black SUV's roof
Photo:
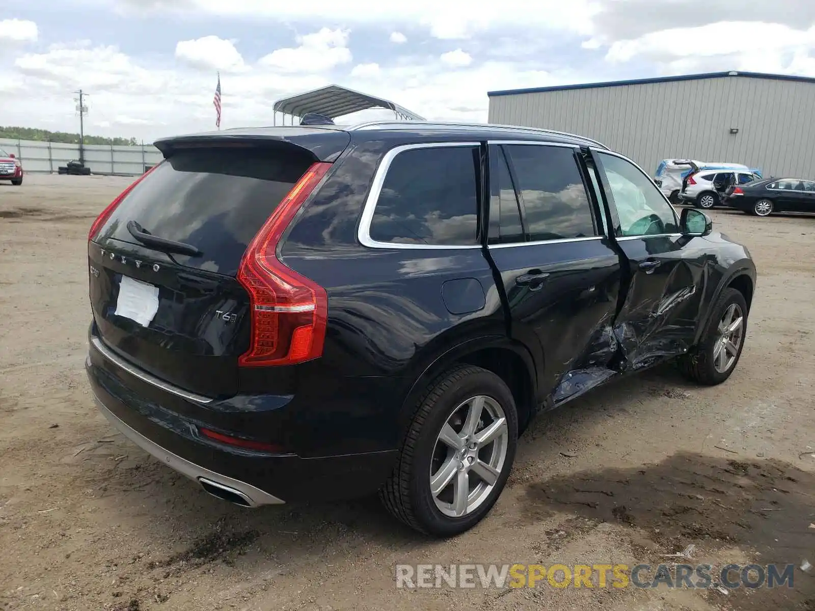
<instances>
[{"instance_id":1,"label":"open-sided metal canopy roof rising behind the black SUV's roof","mask_svg":"<svg viewBox=\"0 0 815 611\"><path fill-rule=\"evenodd\" d=\"M397 118L406 121L425 121L423 116L419 116L416 112L411 112L390 100L363 94L339 85L329 85L313 91L306 91L304 94L277 100L274 106L275 125L278 112L283 112L284 115L292 117L302 117L309 112L316 112L334 119L337 116L350 115L351 112L371 108L392 110Z\"/></svg>"}]
</instances>

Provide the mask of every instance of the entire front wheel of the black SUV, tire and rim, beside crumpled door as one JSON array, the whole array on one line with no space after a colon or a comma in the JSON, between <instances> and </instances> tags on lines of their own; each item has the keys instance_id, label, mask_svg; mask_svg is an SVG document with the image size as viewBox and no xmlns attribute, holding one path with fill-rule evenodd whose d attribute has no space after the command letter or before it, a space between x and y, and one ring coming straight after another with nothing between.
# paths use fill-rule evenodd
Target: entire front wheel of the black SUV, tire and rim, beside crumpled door
<instances>
[{"instance_id":1,"label":"entire front wheel of the black SUV, tire and rim, beside crumpled door","mask_svg":"<svg viewBox=\"0 0 815 611\"><path fill-rule=\"evenodd\" d=\"M721 384L736 368L745 336L747 301L735 288L725 288L711 309L698 348L681 358L682 371L698 384Z\"/></svg>"}]
</instances>

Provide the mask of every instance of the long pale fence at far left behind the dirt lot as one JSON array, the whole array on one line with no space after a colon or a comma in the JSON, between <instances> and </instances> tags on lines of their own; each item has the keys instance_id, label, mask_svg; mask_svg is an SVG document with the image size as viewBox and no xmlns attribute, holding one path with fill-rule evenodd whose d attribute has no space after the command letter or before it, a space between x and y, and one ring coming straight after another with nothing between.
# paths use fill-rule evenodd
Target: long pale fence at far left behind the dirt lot
<instances>
[{"instance_id":1,"label":"long pale fence at far left behind the dirt lot","mask_svg":"<svg viewBox=\"0 0 815 611\"><path fill-rule=\"evenodd\" d=\"M60 165L79 159L78 144L0 138L0 148L23 162L25 172L56 172ZM86 144L85 165L93 174L137 176L163 157L152 144L136 147Z\"/></svg>"}]
</instances>

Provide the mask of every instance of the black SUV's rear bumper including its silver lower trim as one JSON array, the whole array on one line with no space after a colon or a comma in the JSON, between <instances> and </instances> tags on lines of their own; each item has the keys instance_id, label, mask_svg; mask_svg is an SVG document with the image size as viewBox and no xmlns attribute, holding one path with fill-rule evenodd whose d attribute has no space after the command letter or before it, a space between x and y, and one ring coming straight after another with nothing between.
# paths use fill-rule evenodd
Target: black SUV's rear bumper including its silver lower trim
<instances>
[{"instance_id":1,"label":"black SUV's rear bumper including its silver lower trim","mask_svg":"<svg viewBox=\"0 0 815 611\"><path fill-rule=\"evenodd\" d=\"M178 473L198 481L205 490L214 487L238 495L249 507L293 501L350 499L376 492L393 468L395 451L303 458L227 446L202 437L201 422L157 401L154 393L108 361L90 345L86 373L95 402L122 434ZM217 406L200 406L202 413ZM238 419L237 422L243 421ZM257 423L247 421L225 431L252 437ZM221 496L221 495L219 495Z\"/></svg>"}]
</instances>

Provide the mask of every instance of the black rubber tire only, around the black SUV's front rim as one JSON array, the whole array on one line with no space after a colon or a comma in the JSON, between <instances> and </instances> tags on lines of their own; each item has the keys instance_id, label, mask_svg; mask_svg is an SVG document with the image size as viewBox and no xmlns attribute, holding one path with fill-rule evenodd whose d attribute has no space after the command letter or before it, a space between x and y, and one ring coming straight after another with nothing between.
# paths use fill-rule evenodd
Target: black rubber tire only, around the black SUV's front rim
<instances>
[{"instance_id":1,"label":"black rubber tire only, around the black SUV's front rim","mask_svg":"<svg viewBox=\"0 0 815 611\"><path fill-rule=\"evenodd\" d=\"M719 323L731 304L737 304L742 310L742 338L738 345L738 352L735 355L733 364L727 371L718 371L714 363L716 344L720 341ZM741 292L735 288L725 288L711 308L711 316L702 333L699 345L691 353L680 358L680 368L690 380L706 385L715 386L727 380L735 371L739 358L742 357L744 341L747 338L747 301Z\"/></svg>"}]
</instances>

